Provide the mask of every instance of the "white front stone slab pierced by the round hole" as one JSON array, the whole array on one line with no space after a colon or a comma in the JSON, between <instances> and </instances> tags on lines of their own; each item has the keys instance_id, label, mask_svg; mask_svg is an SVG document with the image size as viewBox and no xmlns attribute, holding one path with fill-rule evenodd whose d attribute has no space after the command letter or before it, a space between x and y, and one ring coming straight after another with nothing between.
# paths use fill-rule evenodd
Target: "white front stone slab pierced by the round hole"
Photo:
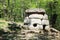
<instances>
[{"instance_id":1,"label":"white front stone slab pierced by the round hole","mask_svg":"<svg viewBox=\"0 0 60 40\"><path fill-rule=\"evenodd\" d=\"M43 26L41 25L41 20L40 19L31 19L31 23L29 24L29 29L31 29L31 30L43 29Z\"/></svg>"}]
</instances>

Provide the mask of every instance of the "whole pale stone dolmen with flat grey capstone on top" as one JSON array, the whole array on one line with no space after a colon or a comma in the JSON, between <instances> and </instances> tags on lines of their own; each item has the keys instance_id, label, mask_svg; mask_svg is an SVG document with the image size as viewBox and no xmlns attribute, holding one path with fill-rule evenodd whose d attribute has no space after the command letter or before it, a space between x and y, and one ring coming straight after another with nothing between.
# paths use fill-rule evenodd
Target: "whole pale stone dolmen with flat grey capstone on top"
<instances>
[{"instance_id":1,"label":"whole pale stone dolmen with flat grey capstone on top","mask_svg":"<svg viewBox=\"0 0 60 40\"><path fill-rule=\"evenodd\" d=\"M24 24L31 30L49 30L49 20L44 9L27 9L26 13L30 14L24 19Z\"/></svg>"}]
</instances>

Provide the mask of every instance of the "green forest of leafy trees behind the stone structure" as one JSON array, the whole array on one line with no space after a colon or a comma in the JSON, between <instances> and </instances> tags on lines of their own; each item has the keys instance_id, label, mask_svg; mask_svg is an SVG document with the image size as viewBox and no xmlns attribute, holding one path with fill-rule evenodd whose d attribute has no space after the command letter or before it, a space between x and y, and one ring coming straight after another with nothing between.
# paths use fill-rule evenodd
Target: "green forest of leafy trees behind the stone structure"
<instances>
[{"instance_id":1,"label":"green forest of leafy trees behind the stone structure","mask_svg":"<svg viewBox=\"0 0 60 40\"><path fill-rule=\"evenodd\" d=\"M23 22L29 8L44 8L54 28L60 30L60 0L0 0L0 20ZM55 22L51 20L54 14Z\"/></svg>"}]
</instances>

